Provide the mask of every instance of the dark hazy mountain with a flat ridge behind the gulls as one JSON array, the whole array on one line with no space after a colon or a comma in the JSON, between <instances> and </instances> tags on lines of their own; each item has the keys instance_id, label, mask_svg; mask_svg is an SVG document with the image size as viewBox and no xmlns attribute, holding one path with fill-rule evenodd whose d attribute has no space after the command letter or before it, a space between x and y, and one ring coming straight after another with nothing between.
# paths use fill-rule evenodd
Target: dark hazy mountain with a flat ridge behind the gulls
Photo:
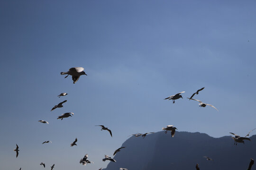
<instances>
[{"instance_id":1,"label":"dark hazy mountain with a flat ridge behind the gulls","mask_svg":"<svg viewBox=\"0 0 256 170\"><path fill-rule=\"evenodd\" d=\"M115 155L117 162L110 162L105 170L195 170L197 163L200 170L247 170L250 158L256 159L256 135L249 138L245 144L234 145L231 136L214 138L199 132L176 131L173 138L164 131L145 139L132 136Z\"/></svg>"}]
</instances>

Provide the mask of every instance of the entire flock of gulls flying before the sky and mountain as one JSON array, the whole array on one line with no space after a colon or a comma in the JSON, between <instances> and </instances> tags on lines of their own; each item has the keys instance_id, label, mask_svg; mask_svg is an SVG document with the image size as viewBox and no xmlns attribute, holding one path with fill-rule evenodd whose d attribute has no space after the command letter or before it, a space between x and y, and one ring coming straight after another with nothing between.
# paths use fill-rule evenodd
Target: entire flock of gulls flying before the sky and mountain
<instances>
[{"instance_id":1,"label":"entire flock of gulls flying before the sky and mountain","mask_svg":"<svg viewBox=\"0 0 256 170\"><path fill-rule=\"evenodd\" d=\"M82 67L74 67L74 68L70 68L67 72L61 72L61 75L67 75L67 76L70 75L70 76L72 76L73 84L75 84L75 83L78 81L78 79L80 78L80 76L82 76L82 75L86 75L86 76L87 76L87 74L86 74L83 70L84 70L84 68L82 68ZM67 76L65 76L64 78L66 78ZM203 102L201 102L200 100L197 100L197 99L193 99L193 98L192 98L192 97L194 97L195 94L199 94L199 92L200 92L201 90L203 90L203 89L204 89L204 87L202 87L201 89L197 90L197 92L193 93L192 96L191 96L190 98L187 98L187 99L189 99L189 100L194 100L194 101L199 102L199 106L200 106L200 107L206 107L206 106L208 105L208 106L210 106L210 107L216 109L216 108L215 108L213 105L211 105L211 104L203 103ZM171 96L165 98L165 100L173 100L173 103L175 103L175 100L177 100L177 99L179 99L179 98L183 98L182 95L181 95L181 93L185 93L185 92L180 92L180 93L177 93L177 94L175 94L175 95L171 95ZM61 94L58 95L58 97L60 98L61 96L65 96L65 95L67 95L67 94L68 94L68 93L61 93ZM56 108L62 108L62 107L63 107L63 103L65 103L65 102L67 102L67 100L64 100L63 102L58 103L57 105L55 105L55 106L51 109L51 111L52 111L52 110L55 110ZM219 111L218 109L216 109L216 110ZM73 112L64 113L64 114L62 114L61 116L58 116L57 119L61 119L61 120L62 120L62 119L64 119L64 118L72 117L72 115L74 115ZM48 123L47 121L45 121L45 120L38 120L38 122L45 123L45 124L49 124L49 123ZM110 130L108 127L105 127L104 125L95 125L95 126L100 126L100 127L101 127L101 130L107 130L107 131L110 133L110 136L112 137L112 132L111 132L111 130ZM167 127L163 127L163 128L162 128L162 130L165 130L165 134L166 134L168 131L171 131L172 137L174 137L174 135L175 135L175 130L176 130L176 129L177 129L177 128L174 127L174 125L168 125ZM255 128L255 129L256 129L256 128ZM252 131L255 130L255 129L252 129L250 132L252 132ZM250 132L249 132L249 133L250 133ZM137 134L132 134L132 135L130 135L130 136L135 136L135 137L141 136L142 138L145 138L146 135L152 134L152 133L154 133L154 132L147 132L147 133L145 133L145 134L137 133ZM238 136L238 135L236 135L236 134L234 134L234 133L232 133L232 132L229 132L229 133L235 136L235 137L232 136L232 139L234 139L234 141L235 141L234 144L236 144L236 145L237 145L238 143L243 143L243 144L245 144L245 143L244 143L244 140L249 140L249 141L250 141L250 138L247 137L247 136L249 136L249 133L248 133L245 137ZM45 142L43 142L42 144L49 143L49 142L52 143L51 141L45 141ZM72 144L70 144L70 146L77 145L76 142L77 142L77 138L75 138L75 140L73 141ZM16 149L14 149L14 151L16 152L16 158L18 157L18 151L19 151L18 148L19 148L19 147L18 147L18 144L16 144ZM118 148L117 150L115 150L113 156L114 156L116 153L120 152L121 149L123 149L123 148L125 148L125 147L120 147L120 148ZM208 160L208 161L213 161L213 159L211 159L211 158L208 157L208 156L203 156L203 157L205 157L206 160ZM113 158L111 158L111 157L108 156L108 155L105 155L105 158L103 158L102 161L112 161L112 162L116 162L116 160L114 160ZM85 154L85 156L80 160L80 163L81 163L82 165L86 165L86 164L89 164L89 163L93 163L93 161L89 161L89 160L88 160L88 154ZM248 168L247 170L251 170L251 167L252 167L253 164L254 164L254 160L251 159L250 164L249 164L249 168ZM41 162L39 165L42 165L44 168L46 168L46 164L43 163L43 162ZM55 166L55 164L53 164L53 165L51 166L51 170L53 170L54 166ZM101 169L102 169L102 168L101 168ZM101 170L101 169L99 169L99 170ZM21 170L21 168L20 168L19 170ZM126 169L126 168L120 168L119 170L128 170L128 169ZM200 170L199 164L196 164L196 170Z\"/></svg>"}]
</instances>

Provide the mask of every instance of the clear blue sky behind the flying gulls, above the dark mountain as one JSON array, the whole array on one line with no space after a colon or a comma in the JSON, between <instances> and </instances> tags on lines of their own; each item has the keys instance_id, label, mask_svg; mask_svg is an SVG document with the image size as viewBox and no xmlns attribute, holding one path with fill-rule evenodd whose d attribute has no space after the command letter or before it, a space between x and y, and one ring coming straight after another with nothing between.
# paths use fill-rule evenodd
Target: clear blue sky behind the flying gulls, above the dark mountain
<instances>
[{"instance_id":1,"label":"clear blue sky behind the flying gulls, above the dark mountain","mask_svg":"<svg viewBox=\"0 0 256 170\"><path fill-rule=\"evenodd\" d=\"M1 0L0 169L40 169L44 162L47 169L55 163L54 170L98 170L108 164L104 154L129 135L167 125L213 137L246 135L256 128L255 6L254 0ZM73 84L60 75L72 67L88 76ZM201 87L194 98L219 112L187 99ZM163 100L182 91L174 104ZM74 115L56 119L65 112ZM113 137L95 125L109 127ZM53 143L42 144L47 140ZM85 167L79 160L86 153L94 164Z\"/></svg>"}]
</instances>

